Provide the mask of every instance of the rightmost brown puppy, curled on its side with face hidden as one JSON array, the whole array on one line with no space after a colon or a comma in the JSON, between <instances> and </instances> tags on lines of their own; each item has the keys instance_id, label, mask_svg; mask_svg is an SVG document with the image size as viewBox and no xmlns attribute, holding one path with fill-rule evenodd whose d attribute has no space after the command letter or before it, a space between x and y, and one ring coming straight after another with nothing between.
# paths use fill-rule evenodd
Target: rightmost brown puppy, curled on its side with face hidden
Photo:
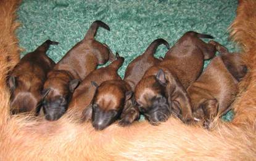
<instances>
[{"instance_id":1,"label":"rightmost brown puppy, curled on its side with face hidden","mask_svg":"<svg viewBox=\"0 0 256 161\"><path fill-rule=\"evenodd\" d=\"M202 119L207 127L214 117L228 111L238 92L237 83L247 73L238 53L228 53L217 42L209 43L216 45L221 55L213 58L199 79L187 90L194 117Z\"/></svg>"}]
</instances>

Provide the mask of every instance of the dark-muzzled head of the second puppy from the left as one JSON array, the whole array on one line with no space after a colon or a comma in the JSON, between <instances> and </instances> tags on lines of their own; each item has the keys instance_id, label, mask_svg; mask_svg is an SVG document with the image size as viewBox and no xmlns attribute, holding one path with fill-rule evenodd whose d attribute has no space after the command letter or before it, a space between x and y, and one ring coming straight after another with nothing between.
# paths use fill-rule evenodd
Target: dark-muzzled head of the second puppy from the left
<instances>
[{"instance_id":1,"label":"dark-muzzled head of the second puppy from the left","mask_svg":"<svg viewBox=\"0 0 256 161\"><path fill-rule=\"evenodd\" d=\"M42 92L44 95L42 106L46 120L58 120L67 111L72 93L79 82L79 79L71 80L70 77L61 74L47 79Z\"/></svg>"}]
</instances>

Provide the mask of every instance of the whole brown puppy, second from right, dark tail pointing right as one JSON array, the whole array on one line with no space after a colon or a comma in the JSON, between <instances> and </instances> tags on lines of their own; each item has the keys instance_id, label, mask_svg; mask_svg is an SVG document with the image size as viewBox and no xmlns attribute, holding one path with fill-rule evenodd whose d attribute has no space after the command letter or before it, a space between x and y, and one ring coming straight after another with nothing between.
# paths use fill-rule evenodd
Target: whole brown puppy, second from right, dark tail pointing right
<instances>
[{"instance_id":1,"label":"whole brown puppy, second from right, dark tail pointing right","mask_svg":"<svg viewBox=\"0 0 256 161\"><path fill-rule=\"evenodd\" d=\"M152 124L168 119L171 112L184 122L193 120L186 88L202 72L204 60L216 49L199 38L213 38L193 31L185 33L165 54L159 65L149 68L135 88L139 111Z\"/></svg>"}]
</instances>

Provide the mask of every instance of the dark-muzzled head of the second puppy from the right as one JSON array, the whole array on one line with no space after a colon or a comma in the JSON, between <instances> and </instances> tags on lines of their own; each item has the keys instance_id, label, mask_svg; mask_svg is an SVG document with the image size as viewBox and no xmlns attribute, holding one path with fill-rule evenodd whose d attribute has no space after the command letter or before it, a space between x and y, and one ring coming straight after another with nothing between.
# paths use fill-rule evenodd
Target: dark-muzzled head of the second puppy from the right
<instances>
[{"instance_id":1,"label":"dark-muzzled head of the second puppy from the right","mask_svg":"<svg viewBox=\"0 0 256 161\"><path fill-rule=\"evenodd\" d=\"M135 89L135 100L139 111L153 125L164 122L171 114L168 97L165 92L167 80L162 69L156 76L142 79Z\"/></svg>"}]
</instances>

